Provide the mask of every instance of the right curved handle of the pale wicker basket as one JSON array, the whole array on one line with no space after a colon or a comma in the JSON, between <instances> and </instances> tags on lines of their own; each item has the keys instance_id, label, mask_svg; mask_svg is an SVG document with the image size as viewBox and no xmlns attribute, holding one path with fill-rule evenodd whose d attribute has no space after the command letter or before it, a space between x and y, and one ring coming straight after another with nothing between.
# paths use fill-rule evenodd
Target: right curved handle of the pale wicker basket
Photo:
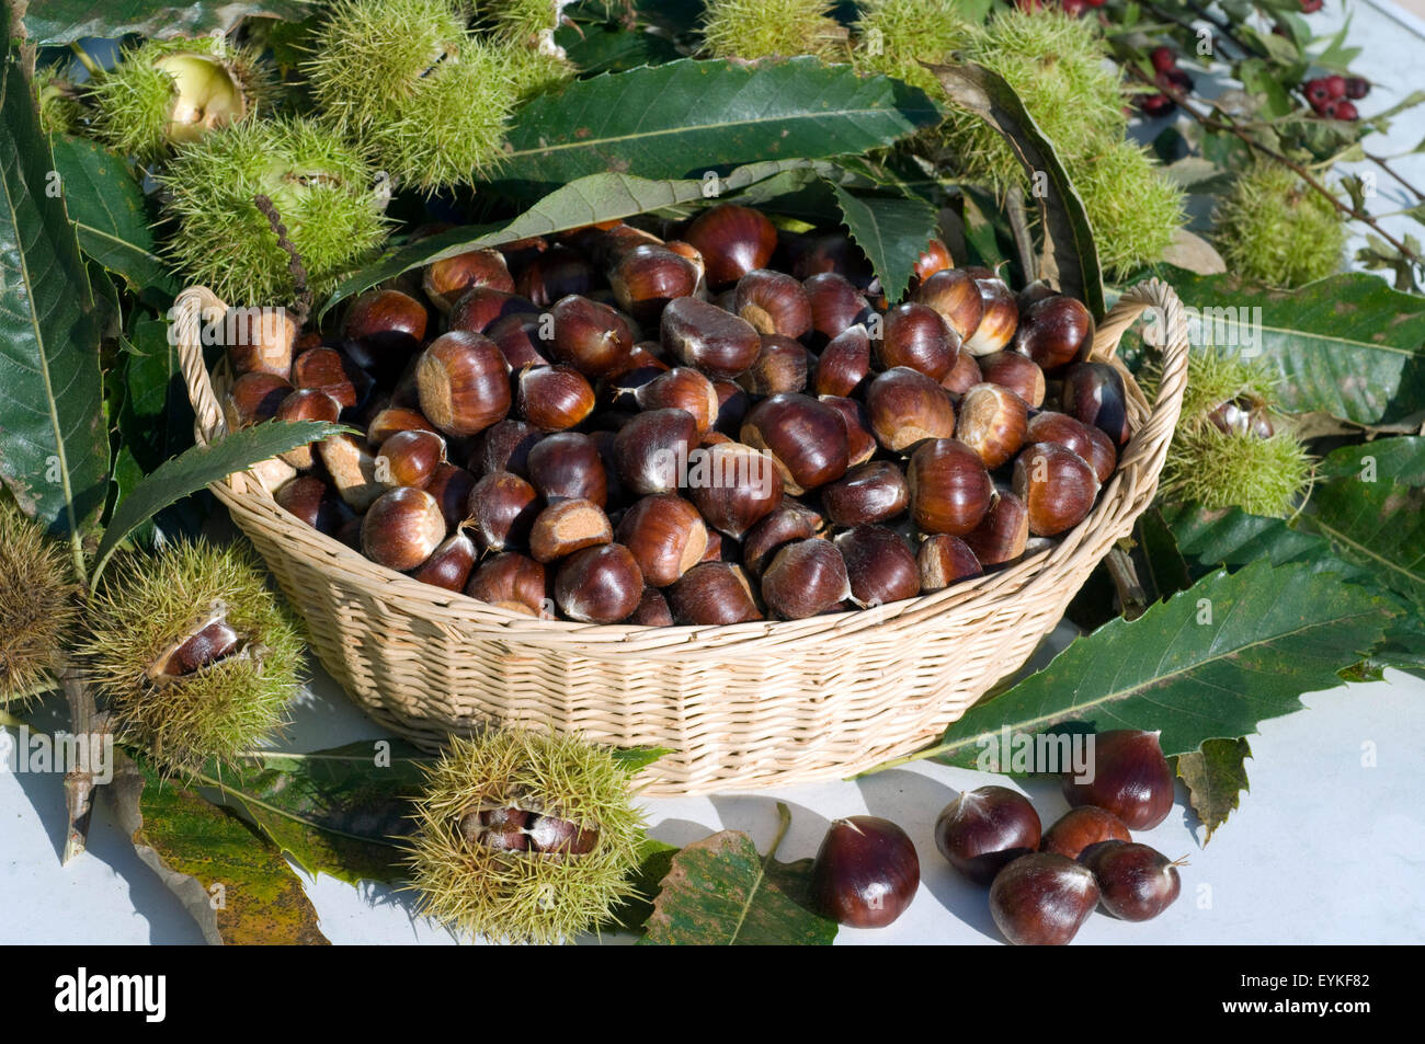
<instances>
[{"instance_id":1,"label":"right curved handle of the pale wicker basket","mask_svg":"<svg viewBox=\"0 0 1425 1044\"><path fill-rule=\"evenodd\" d=\"M1136 385L1129 385L1129 395L1139 399L1149 412L1149 419L1133 433L1130 451L1120 466L1140 460L1159 446L1166 447L1177 427L1177 416L1183 407L1181 392L1187 386L1187 355L1191 348L1187 336L1187 312L1173 288L1161 279L1147 279L1123 292L1099 323L1089 357L1096 362L1112 362L1123 335L1144 313L1147 318L1143 339L1163 353L1163 372L1157 386L1157 400L1153 403L1143 397Z\"/></svg>"}]
</instances>

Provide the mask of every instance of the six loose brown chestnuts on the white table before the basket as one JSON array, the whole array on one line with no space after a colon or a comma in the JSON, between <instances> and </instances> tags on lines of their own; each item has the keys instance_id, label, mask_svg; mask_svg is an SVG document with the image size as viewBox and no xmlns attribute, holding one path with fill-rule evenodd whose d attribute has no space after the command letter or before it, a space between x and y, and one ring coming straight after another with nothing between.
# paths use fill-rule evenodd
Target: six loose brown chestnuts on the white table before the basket
<instances>
[{"instance_id":1,"label":"six loose brown chestnuts on the white table before the basket","mask_svg":"<svg viewBox=\"0 0 1425 1044\"><path fill-rule=\"evenodd\" d=\"M1047 830L1029 799L1006 786L966 790L935 823L935 846L989 887L990 914L1016 946L1063 946L1099 906L1120 920L1150 920L1181 892L1183 860L1129 833L1153 829L1173 808L1173 773L1157 734L1117 729L1094 741L1092 778L1063 776L1070 809ZM811 894L839 924L885 927L911 906L919 883L905 830L851 816L826 832Z\"/></svg>"}]
</instances>

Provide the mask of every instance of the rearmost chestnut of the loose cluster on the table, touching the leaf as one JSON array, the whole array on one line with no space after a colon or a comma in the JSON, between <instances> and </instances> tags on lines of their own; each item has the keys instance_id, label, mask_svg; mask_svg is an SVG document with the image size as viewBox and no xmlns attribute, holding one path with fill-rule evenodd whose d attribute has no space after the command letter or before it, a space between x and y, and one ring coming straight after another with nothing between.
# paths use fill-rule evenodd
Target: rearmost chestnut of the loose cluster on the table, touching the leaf
<instances>
[{"instance_id":1,"label":"rearmost chestnut of the loose cluster on the table, touching the leaf","mask_svg":"<svg viewBox=\"0 0 1425 1044\"><path fill-rule=\"evenodd\" d=\"M1112 729L1093 738L1089 779L1063 776L1064 800L1073 808L1107 809L1130 830L1151 830L1173 809L1173 772L1157 732Z\"/></svg>"}]
</instances>

